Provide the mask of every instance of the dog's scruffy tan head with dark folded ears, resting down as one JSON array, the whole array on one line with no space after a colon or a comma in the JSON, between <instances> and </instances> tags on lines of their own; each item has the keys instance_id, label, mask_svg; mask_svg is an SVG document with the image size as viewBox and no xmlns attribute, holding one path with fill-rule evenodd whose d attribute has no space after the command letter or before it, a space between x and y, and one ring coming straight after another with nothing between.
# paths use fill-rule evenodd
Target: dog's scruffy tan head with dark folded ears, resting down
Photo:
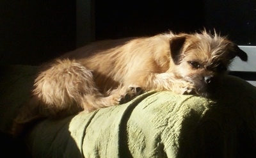
<instances>
[{"instance_id":1,"label":"dog's scruffy tan head with dark folded ears, resting down","mask_svg":"<svg viewBox=\"0 0 256 158\"><path fill-rule=\"evenodd\" d=\"M172 67L170 70L195 86L195 92L211 96L221 81L221 75L236 56L247 61L246 52L225 37L206 31L193 35L175 35L170 40Z\"/></svg>"}]
</instances>

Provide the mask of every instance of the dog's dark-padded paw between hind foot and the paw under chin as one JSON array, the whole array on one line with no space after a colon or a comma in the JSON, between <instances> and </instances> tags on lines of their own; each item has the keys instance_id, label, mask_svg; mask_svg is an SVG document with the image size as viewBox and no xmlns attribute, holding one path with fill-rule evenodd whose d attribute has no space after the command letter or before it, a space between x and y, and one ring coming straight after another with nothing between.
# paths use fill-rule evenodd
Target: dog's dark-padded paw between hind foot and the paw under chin
<instances>
[{"instance_id":1,"label":"dog's dark-padded paw between hind foot and the paw under chin","mask_svg":"<svg viewBox=\"0 0 256 158\"><path fill-rule=\"evenodd\" d=\"M129 102L130 100L134 99L135 97L137 97L138 95L141 95L144 92L145 91L138 86L129 86L125 94L122 95L119 101L119 104L124 104L126 102Z\"/></svg>"}]
</instances>

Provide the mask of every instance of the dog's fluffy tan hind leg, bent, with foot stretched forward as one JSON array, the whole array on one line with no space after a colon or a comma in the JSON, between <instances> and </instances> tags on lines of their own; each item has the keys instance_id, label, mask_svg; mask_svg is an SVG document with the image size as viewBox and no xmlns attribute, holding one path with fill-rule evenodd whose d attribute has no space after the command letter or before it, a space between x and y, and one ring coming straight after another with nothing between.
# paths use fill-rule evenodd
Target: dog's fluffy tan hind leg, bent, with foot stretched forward
<instances>
[{"instance_id":1,"label":"dog's fluffy tan hind leg, bent, with foot stretched forward","mask_svg":"<svg viewBox=\"0 0 256 158\"><path fill-rule=\"evenodd\" d=\"M38 75L34 95L39 100L41 115L49 117L115 106L127 90L115 91L103 95L93 81L92 72L81 63L58 60Z\"/></svg>"}]
</instances>

